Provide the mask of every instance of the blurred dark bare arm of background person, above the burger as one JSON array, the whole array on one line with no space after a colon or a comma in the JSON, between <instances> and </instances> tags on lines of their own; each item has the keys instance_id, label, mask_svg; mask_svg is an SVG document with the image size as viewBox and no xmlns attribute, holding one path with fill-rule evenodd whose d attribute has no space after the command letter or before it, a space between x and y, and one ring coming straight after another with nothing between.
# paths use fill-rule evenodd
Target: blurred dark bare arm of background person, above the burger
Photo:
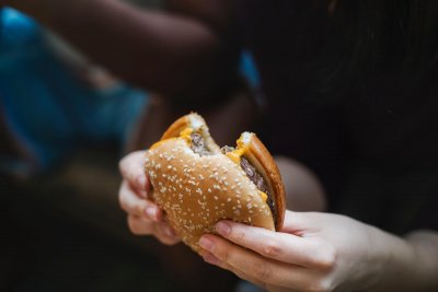
<instances>
[{"instance_id":1,"label":"blurred dark bare arm of background person, above the burger","mask_svg":"<svg viewBox=\"0 0 438 292\"><path fill-rule=\"evenodd\" d=\"M16 0L11 4L116 75L168 96L215 92L229 82L234 69L233 45L194 19L143 11L116 0Z\"/></svg>"}]
</instances>

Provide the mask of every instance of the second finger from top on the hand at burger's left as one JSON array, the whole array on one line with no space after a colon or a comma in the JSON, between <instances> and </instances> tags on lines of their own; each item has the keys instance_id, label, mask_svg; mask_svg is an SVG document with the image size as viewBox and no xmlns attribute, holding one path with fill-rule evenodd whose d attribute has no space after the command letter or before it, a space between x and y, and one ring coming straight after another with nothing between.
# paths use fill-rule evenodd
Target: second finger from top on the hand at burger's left
<instances>
[{"instance_id":1,"label":"second finger from top on the hand at burger's left","mask_svg":"<svg viewBox=\"0 0 438 292\"><path fill-rule=\"evenodd\" d=\"M140 199L126 180L122 183L118 199L122 209L128 214L147 217L155 222L163 218L161 209L150 200Z\"/></svg>"}]
</instances>

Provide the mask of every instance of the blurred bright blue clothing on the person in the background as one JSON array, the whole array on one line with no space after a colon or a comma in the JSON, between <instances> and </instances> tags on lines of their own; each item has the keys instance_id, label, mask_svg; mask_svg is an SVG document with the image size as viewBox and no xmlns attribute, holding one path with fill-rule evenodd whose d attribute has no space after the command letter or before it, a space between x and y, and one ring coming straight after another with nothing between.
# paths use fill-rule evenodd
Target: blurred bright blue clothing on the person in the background
<instances>
[{"instance_id":1,"label":"blurred bright blue clothing on the person in the background","mask_svg":"<svg viewBox=\"0 0 438 292\"><path fill-rule=\"evenodd\" d=\"M37 23L0 10L0 110L38 168L83 140L123 143L147 101L145 92L123 83L103 91L85 85L57 59Z\"/></svg>"}]
</instances>

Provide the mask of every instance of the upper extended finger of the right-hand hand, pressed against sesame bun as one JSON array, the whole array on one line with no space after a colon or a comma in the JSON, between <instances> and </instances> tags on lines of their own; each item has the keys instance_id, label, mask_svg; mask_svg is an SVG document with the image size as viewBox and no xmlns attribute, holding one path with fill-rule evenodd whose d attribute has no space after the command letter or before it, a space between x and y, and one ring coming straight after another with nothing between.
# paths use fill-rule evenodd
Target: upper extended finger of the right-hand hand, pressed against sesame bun
<instances>
[{"instance_id":1,"label":"upper extended finger of the right-hand hand, pressed against sesame bun","mask_svg":"<svg viewBox=\"0 0 438 292\"><path fill-rule=\"evenodd\" d=\"M216 231L224 238L270 259L302 267L324 268L334 259L314 238L274 232L231 221L221 221ZM332 250L330 250L332 252Z\"/></svg>"}]
</instances>

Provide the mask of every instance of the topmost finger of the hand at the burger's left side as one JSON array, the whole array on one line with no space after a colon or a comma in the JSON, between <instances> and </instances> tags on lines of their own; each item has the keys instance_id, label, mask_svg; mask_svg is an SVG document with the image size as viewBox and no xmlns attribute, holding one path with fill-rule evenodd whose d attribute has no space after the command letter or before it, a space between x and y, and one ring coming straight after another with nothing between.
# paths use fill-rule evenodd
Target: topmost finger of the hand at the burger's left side
<instances>
[{"instance_id":1,"label":"topmost finger of the hand at the burger's left side","mask_svg":"<svg viewBox=\"0 0 438 292\"><path fill-rule=\"evenodd\" d=\"M148 191L150 183L145 173L145 151L137 151L125 156L119 163L119 170L129 184L143 191Z\"/></svg>"}]
</instances>

